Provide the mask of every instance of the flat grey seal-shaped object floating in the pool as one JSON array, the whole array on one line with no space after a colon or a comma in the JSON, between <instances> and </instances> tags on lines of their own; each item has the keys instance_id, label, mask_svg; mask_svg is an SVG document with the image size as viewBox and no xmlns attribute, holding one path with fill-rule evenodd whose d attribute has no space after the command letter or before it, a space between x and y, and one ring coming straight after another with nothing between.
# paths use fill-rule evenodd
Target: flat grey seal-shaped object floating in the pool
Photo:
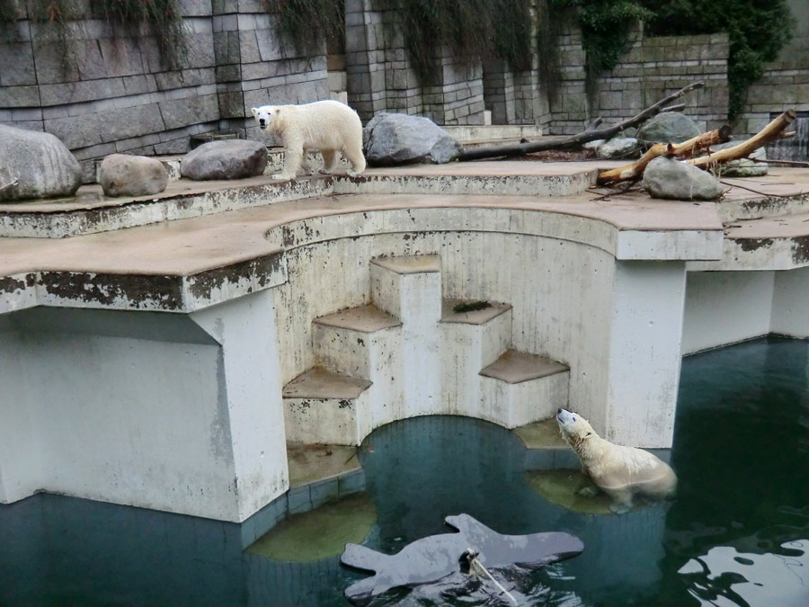
<instances>
[{"instance_id":1,"label":"flat grey seal-shaped object floating in the pool","mask_svg":"<svg viewBox=\"0 0 809 607\"><path fill-rule=\"evenodd\" d=\"M570 533L502 535L468 514L448 516L444 521L458 533L415 540L393 555L360 544L346 544L340 558L342 564L375 572L375 575L350 585L345 590L345 597L351 603L365 603L392 588L429 584L458 573L461 567L458 558L468 548L479 552L478 560L490 569L515 564L544 567L557 560L575 557L584 549L582 540Z\"/></svg>"}]
</instances>

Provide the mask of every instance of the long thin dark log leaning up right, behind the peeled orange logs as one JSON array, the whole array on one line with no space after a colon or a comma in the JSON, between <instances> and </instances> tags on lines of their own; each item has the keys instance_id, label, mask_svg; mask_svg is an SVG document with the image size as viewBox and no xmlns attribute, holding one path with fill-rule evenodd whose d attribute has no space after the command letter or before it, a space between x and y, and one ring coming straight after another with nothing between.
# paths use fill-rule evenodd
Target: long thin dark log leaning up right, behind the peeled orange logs
<instances>
[{"instance_id":1,"label":"long thin dark log leaning up right, behind the peeled orange logs","mask_svg":"<svg viewBox=\"0 0 809 607\"><path fill-rule=\"evenodd\" d=\"M594 141L595 139L609 139L626 129L631 129L636 127L638 124L645 122L655 114L662 112L662 109L675 99L679 99L682 95L688 94L695 89L702 88L703 86L705 86L703 81L685 86L677 93L670 94L668 97L646 108L634 118L630 118L628 121L618 122L618 124L611 127L605 127L603 129L585 129L580 133L576 133L575 135L543 137L538 141L529 141L527 143L515 145L476 147L475 149L464 151L460 156L458 156L458 160L480 160L481 158L498 158L502 156L525 156L526 154L533 154L534 152L544 152L548 149L581 147L582 144L587 143L588 141Z\"/></svg>"}]
</instances>

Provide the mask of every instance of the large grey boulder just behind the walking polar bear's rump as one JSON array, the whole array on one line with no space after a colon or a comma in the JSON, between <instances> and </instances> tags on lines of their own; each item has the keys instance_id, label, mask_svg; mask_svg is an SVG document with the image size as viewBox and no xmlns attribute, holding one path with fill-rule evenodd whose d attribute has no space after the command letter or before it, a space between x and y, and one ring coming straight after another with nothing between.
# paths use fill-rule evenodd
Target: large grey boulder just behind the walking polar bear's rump
<instances>
[{"instance_id":1,"label":"large grey boulder just behind the walking polar bear's rump","mask_svg":"<svg viewBox=\"0 0 809 607\"><path fill-rule=\"evenodd\" d=\"M458 158L464 150L446 130L421 116L379 113L362 135L370 165L442 165Z\"/></svg>"}]
</instances>

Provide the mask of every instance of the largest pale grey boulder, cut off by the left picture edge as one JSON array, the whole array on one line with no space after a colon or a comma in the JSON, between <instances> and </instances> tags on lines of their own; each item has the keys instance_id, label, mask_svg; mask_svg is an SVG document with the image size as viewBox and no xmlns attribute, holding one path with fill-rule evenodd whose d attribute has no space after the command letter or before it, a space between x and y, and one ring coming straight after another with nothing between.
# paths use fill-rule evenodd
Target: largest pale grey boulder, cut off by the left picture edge
<instances>
[{"instance_id":1,"label":"largest pale grey boulder, cut off by the left picture edge","mask_svg":"<svg viewBox=\"0 0 809 607\"><path fill-rule=\"evenodd\" d=\"M81 165L58 138L0 125L0 201L73 196L81 183Z\"/></svg>"}]
</instances>

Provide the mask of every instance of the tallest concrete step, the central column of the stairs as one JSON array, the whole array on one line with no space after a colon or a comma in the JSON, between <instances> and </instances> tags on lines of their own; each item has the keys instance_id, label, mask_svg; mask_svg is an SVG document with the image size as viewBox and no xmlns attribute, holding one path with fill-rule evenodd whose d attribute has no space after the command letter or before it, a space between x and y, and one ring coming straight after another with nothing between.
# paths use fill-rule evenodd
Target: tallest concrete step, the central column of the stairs
<instances>
[{"instance_id":1,"label":"tallest concrete step, the central column of the stairs","mask_svg":"<svg viewBox=\"0 0 809 607\"><path fill-rule=\"evenodd\" d=\"M402 320L401 394L405 417L440 411L439 255L379 257L369 265L371 299Z\"/></svg>"}]
</instances>

